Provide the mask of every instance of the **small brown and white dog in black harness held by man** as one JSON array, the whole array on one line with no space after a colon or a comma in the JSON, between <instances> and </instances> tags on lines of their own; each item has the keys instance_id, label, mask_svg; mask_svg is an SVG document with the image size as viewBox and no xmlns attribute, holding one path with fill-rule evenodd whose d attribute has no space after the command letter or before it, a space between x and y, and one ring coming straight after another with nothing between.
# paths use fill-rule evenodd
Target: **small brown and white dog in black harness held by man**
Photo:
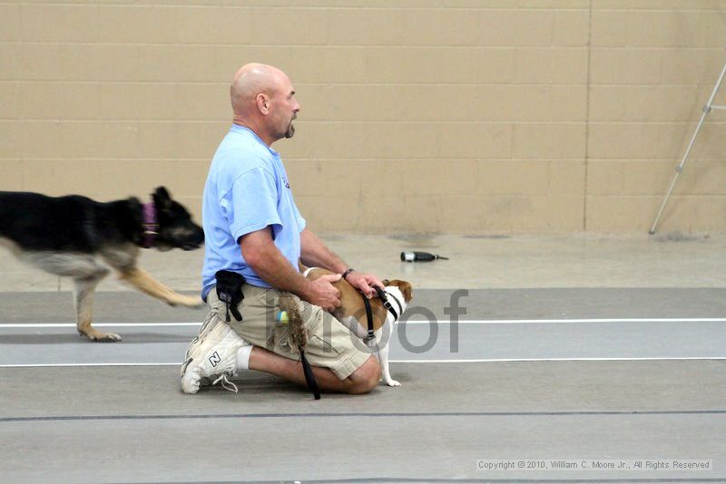
<instances>
[{"instance_id":1,"label":"small brown and white dog in black harness held by man","mask_svg":"<svg viewBox=\"0 0 726 484\"><path fill-rule=\"evenodd\" d=\"M321 269L319 267L308 268L301 263L299 264L299 269L303 276L308 277L312 281L320 276L335 274L328 269ZM413 297L413 288L407 281L399 281L396 279L389 281L388 279L384 279L381 282L386 286L385 293L388 296L388 301L397 314L394 316L388 311L379 297L369 299L370 309L373 315L375 342L378 345L378 357L380 359L382 373L381 378L388 386L399 386L401 383L393 380L388 370L388 343L390 341L393 324L396 323L398 317L404 312L406 305ZM359 338L368 337L368 317L366 315L366 306L363 302L363 295L358 292L358 289L350 286L343 279L331 284L340 292L340 307L336 308L332 312L332 315L342 324L348 326L348 329ZM386 339L384 344L381 344L384 336L386 336Z\"/></svg>"}]
</instances>

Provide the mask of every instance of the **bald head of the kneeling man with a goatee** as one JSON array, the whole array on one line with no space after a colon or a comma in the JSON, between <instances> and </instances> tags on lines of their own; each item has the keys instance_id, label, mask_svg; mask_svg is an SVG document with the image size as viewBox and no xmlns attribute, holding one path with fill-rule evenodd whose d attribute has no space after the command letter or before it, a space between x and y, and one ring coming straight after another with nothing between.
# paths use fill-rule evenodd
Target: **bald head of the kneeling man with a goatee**
<instances>
[{"instance_id":1,"label":"bald head of the kneeling man with a goatee","mask_svg":"<svg viewBox=\"0 0 726 484\"><path fill-rule=\"evenodd\" d=\"M234 74L230 87L234 122L247 126L270 146L282 138L292 138L292 121L300 105L292 82L277 67L248 63Z\"/></svg>"}]
</instances>

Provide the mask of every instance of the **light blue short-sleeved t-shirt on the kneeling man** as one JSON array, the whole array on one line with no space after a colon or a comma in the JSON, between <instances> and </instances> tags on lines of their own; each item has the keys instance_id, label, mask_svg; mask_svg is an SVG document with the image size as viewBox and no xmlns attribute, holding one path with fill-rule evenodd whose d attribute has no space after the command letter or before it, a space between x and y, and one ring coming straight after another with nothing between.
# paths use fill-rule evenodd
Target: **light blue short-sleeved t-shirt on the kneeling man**
<instances>
[{"instance_id":1,"label":"light blue short-sleeved t-shirt on the kneeling man","mask_svg":"<svg viewBox=\"0 0 726 484\"><path fill-rule=\"evenodd\" d=\"M240 237L271 227L275 246L298 268L300 216L288 175L277 151L247 128L233 124L211 160L201 205L204 226L204 268L201 298L216 285L214 275L225 269L240 273L252 286L270 287L245 262Z\"/></svg>"}]
</instances>

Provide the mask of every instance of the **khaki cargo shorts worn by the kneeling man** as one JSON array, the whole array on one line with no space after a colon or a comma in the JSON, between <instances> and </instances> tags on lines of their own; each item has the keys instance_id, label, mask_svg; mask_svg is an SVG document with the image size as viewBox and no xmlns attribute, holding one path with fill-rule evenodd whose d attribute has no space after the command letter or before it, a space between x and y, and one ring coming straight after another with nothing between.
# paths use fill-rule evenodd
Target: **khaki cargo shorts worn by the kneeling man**
<instances>
[{"instance_id":1,"label":"khaki cargo shorts worn by the kneeling man","mask_svg":"<svg viewBox=\"0 0 726 484\"><path fill-rule=\"evenodd\" d=\"M248 343L291 360L299 360L298 348L289 344L289 326L275 321L275 315L280 311L277 304L280 291L245 284L242 294L244 299L238 305L242 321L230 315L231 321L227 324ZM308 334L305 357L311 365L329 368L340 380L344 380L366 363L371 355L370 349L345 325L319 306L295 295L292 297L298 303ZM214 316L226 321L227 307L217 296L216 287L212 287L207 295L207 303Z\"/></svg>"}]
</instances>

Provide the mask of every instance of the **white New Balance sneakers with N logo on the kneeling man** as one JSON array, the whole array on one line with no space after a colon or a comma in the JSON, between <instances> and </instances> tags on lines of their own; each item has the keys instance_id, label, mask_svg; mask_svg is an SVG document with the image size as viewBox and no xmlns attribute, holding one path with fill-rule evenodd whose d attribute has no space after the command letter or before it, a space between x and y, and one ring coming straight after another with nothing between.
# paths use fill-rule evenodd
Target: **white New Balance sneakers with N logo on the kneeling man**
<instances>
[{"instance_id":1,"label":"white New Balance sneakers with N logo on the kneeling man","mask_svg":"<svg viewBox=\"0 0 726 484\"><path fill-rule=\"evenodd\" d=\"M207 327L202 325L197 341L192 340L184 355L182 390L185 393L199 392L201 379L215 377L211 384L221 382L225 389L237 392L237 386L228 377L234 376L237 352L249 343L228 324L218 318L211 319L217 323L212 325L205 321Z\"/></svg>"}]
</instances>

